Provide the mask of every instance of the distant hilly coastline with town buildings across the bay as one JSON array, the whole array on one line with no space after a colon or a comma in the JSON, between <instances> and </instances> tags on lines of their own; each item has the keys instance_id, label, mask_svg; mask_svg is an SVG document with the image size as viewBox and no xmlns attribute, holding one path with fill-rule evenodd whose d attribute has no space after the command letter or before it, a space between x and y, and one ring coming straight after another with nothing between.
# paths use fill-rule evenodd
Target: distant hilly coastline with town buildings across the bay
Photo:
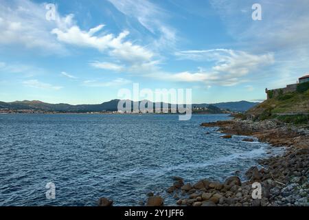
<instances>
[{"instance_id":1,"label":"distant hilly coastline with town buildings across the bay","mask_svg":"<svg viewBox=\"0 0 309 220\"><path fill-rule=\"evenodd\" d=\"M33 101L15 101L0 102L0 113L174 113L181 106L179 104L170 104L165 102L150 102L147 100L143 111L133 111L133 107L140 106L142 101L133 102L126 100L130 104L128 111L119 111L118 103L121 100L111 100L102 104L50 104L38 100ZM191 104L192 113L232 113L244 112L254 107L259 102L220 102L215 104ZM186 107L184 104L183 107ZM172 111L172 110L173 111ZM176 111L178 113L178 111Z\"/></svg>"}]
</instances>

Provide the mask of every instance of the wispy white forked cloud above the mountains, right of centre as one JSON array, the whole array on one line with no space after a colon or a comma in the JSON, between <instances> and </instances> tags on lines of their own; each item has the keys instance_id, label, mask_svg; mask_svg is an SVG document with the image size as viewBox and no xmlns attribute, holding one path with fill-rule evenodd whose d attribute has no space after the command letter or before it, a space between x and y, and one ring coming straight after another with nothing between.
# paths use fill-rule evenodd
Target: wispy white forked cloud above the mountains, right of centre
<instances>
[{"instance_id":1,"label":"wispy white forked cloud above the mountains, right of centre","mask_svg":"<svg viewBox=\"0 0 309 220\"><path fill-rule=\"evenodd\" d=\"M203 82L217 85L237 85L243 83L250 73L274 62L273 54L254 55L243 51L215 49L215 50L189 50L176 53L181 59L193 61L211 61L215 65L211 69L198 68L195 73L181 72L178 74L162 74L170 80L184 82Z\"/></svg>"}]
</instances>

